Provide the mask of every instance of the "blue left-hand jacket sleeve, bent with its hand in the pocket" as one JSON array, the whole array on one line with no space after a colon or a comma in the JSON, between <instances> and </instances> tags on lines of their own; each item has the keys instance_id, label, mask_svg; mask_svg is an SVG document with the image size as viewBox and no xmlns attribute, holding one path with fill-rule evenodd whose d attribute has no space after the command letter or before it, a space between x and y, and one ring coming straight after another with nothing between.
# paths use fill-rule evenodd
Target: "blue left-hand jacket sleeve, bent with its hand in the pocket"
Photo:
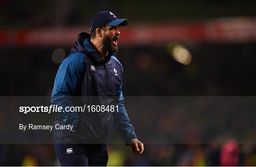
<instances>
[{"instance_id":1,"label":"blue left-hand jacket sleeve, bent with its hand in the pocket","mask_svg":"<svg viewBox=\"0 0 256 167\"><path fill-rule=\"evenodd\" d=\"M66 112L65 107L74 106L72 96L75 95L83 74L83 59L79 52L69 55L61 63L55 77L51 103L63 107L64 112L58 112L57 117L65 125L73 125L75 130L80 123L80 115L76 112Z\"/></svg>"}]
</instances>

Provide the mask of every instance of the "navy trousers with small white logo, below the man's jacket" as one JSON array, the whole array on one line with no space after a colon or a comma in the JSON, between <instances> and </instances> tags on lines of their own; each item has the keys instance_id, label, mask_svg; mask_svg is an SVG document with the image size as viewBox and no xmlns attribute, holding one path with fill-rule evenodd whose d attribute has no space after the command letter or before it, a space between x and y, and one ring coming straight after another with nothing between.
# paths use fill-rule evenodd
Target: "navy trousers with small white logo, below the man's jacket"
<instances>
[{"instance_id":1,"label":"navy trousers with small white logo, below the man's jacket","mask_svg":"<svg viewBox=\"0 0 256 167\"><path fill-rule=\"evenodd\" d=\"M55 143L60 165L65 166L107 166L106 144Z\"/></svg>"}]
</instances>

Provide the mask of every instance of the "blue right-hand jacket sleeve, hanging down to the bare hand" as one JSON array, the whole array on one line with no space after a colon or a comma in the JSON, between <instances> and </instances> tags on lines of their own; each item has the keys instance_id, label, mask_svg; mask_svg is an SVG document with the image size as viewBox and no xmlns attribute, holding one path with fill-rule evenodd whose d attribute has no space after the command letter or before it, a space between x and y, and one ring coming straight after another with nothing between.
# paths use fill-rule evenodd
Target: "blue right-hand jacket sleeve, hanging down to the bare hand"
<instances>
[{"instance_id":1,"label":"blue right-hand jacket sleeve, hanging down to the bare hand","mask_svg":"<svg viewBox=\"0 0 256 167\"><path fill-rule=\"evenodd\" d=\"M126 144L131 139L137 138L134 127L128 117L124 106L124 97L122 93L122 83L119 88L119 100L118 100L118 112L114 112L114 127L118 132L119 136L124 140Z\"/></svg>"}]
</instances>

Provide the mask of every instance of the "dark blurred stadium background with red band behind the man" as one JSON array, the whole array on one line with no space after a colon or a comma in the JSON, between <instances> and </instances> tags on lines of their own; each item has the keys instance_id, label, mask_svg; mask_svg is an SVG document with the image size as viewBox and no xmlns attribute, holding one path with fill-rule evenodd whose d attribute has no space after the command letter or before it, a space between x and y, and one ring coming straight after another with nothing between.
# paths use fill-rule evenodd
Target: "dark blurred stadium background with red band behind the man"
<instances>
[{"instance_id":1,"label":"dark blurred stadium background with red band behind the man","mask_svg":"<svg viewBox=\"0 0 256 167\"><path fill-rule=\"evenodd\" d=\"M60 62L102 10L129 20L120 29L118 53L125 96L255 96L255 0L0 0L0 95L49 96ZM5 115L0 112L0 125ZM146 112L144 116L148 118ZM223 117L225 113L219 115ZM163 128L158 125L162 118L148 123ZM143 132L140 120L132 120ZM108 165L256 166L255 144L227 136L222 140L147 144L142 156L132 155L125 145L110 144ZM50 144L1 144L0 165L58 162Z\"/></svg>"}]
</instances>

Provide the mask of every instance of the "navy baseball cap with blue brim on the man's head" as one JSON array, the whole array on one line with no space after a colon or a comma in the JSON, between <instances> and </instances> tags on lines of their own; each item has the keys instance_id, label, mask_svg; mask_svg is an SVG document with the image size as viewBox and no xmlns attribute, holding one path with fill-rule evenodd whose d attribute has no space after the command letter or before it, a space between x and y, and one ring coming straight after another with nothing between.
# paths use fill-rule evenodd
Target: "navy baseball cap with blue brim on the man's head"
<instances>
[{"instance_id":1,"label":"navy baseball cap with blue brim on the man's head","mask_svg":"<svg viewBox=\"0 0 256 167\"><path fill-rule=\"evenodd\" d=\"M125 26L128 24L127 19L118 19L112 12L110 11L101 11L97 13L91 19L90 30L94 30L102 25L110 25L110 26Z\"/></svg>"}]
</instances>

